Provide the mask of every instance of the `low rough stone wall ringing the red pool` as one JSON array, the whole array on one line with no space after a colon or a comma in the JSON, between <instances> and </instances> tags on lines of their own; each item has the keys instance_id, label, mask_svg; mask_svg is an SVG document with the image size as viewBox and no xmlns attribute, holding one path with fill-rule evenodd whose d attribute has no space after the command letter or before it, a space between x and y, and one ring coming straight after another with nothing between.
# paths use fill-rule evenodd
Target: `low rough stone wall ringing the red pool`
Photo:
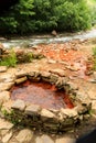
<instances>
[{"instance_id":1,"label":"low rough stone wall ringing the red pool","mask_svg":"<svg viewBox=\"0 0 96 143\"><path fill-rule=\"evenodd\" d=\"M78 90L76 85L72 84L67 77L63 75L60 77L58 74L53 74L52 72L39 72L32 70L25 73L25 70L20 70L14 73L12 77L12 82L3 80L0 84L0 107L1 114L14 122L18 122L23 125L41 129L47 132L57 132L57 131L68 131L74 128L77 122L83 121L84 117L88 114L89 105L82 105L82 101L77 101L76 91ZM58 72L60 73L60 72ZM6 77L7 79L7 77ZM30 80L45 80L51 84L55 84L57 88L64 88L71 97L74 97L74 103L76 105L73 109L43 109L39 105L32 105L24 102L23 100L11 100L9 89L14 84L21 84L26 79ZM8 86L7 86L8 85ZM83 102L84 103L84 102ZM77 106L78 105L78 106Z\"/></svg>"}]
</instances>

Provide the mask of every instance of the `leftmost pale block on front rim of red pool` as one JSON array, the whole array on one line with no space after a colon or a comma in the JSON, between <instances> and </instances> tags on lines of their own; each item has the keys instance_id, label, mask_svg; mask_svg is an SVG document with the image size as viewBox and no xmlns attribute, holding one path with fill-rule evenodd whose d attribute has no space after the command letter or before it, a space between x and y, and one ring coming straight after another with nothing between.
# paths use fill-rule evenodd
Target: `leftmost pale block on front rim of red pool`
<instances>
[{"instance_id":1,"label":"leftmost pale block on front rim of red pool","mask_svg":"<svg viewBox=\"0 0 96 143\"><path fill-rule=\"evenodd\" d=\"M12 109L19 109L23 111L24 108L25 108L25 103L23 100L20 100L20 99L15 100L14 103L12 105Z\"/></svg>"}]
</instances>

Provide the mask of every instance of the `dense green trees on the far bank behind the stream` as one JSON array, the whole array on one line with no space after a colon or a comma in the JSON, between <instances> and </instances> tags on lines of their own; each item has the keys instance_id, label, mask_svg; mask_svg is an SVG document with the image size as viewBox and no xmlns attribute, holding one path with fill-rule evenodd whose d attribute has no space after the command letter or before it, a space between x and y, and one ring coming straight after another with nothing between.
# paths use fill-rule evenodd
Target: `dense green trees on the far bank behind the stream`
<instances>
[{"instance_id":1,"label":"dense green trees on the far bank behind the stream","mask_svg":"<svg viewBox=\"0 0 96 143\"><path fill-rule=\"evenodd\" d=\"M20 0L0 16L0 33L81 31L96 20L96 0Z\"/></svg>"}]
</instances>

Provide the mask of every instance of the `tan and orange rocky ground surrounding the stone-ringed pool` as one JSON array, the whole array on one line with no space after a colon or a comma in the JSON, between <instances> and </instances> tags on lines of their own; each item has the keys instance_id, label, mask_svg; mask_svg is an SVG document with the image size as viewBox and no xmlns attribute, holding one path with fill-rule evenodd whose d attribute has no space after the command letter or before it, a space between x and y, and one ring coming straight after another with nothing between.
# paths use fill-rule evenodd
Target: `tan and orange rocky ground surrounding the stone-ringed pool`
<instances>
[{"instance_id":1,"label":"tan and orange rocky ground surrounding the stone-ringed pool","mask_svg":"<svg viewBox=\"0 0 96 143\"><path fill-rule=\"evenodd\" d=\"M95 46L96 40L74 41L65 44L41 44L29 51L43 54L45 58L34 59L32 63L18 65L15 68L0 67L0 92L7 88L2 82L6 85L11 82L15 73L25 73L31 69L50 72L60 77L67 77L74 88L77 88L76 99L82 103L92 103L93 111L92 118L88 120L86 118L81 125L68 132L56 134L36 131L35 128L15 127L0 113L0 143L74 143L76 138L95 129L96 72L92 70L92 48ZM2 96L0 95L1 100Z\"/></svg>"}]
</instances>

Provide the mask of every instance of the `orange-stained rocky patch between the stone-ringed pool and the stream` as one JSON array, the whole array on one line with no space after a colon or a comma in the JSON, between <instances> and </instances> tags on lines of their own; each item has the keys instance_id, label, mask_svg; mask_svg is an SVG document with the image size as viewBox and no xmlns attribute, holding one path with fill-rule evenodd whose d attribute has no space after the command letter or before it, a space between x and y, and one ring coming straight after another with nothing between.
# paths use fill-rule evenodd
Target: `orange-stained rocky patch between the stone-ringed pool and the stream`
<instances>
[{"instance_id":1,"label":"orange-stained rocky patch between the stone-ringed pool and the stream","mask_svg":"<svg viewBox=\"0 0 96 143\"><path fill-rule=\"evenodd\" d=\"M85 51L85 47L83 48L83 46L84 45L81 45L78 43L56 43L47 45L40 44L38 48L40 50L41 54L50 59L65 62L66 65L68 65L65 68L73 70L72 75L75 74L75 76L77 75L79 78L86 79L87 73L92 69L93 64L90 61L88 61L92 55Z\"/></svg>"}]
</instances>

